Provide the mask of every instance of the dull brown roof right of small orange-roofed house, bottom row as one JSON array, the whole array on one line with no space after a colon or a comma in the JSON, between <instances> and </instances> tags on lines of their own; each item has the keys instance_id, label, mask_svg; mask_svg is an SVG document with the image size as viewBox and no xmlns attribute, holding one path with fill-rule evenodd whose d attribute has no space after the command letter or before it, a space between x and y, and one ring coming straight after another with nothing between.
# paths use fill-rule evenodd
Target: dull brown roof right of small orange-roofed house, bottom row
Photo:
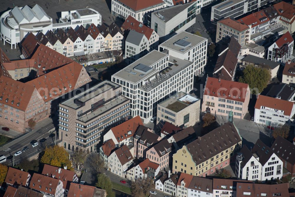
<instances>
[{"instance_id":1,"label":"dull brown roof right of small orange-roofed house, bottom row","mask_svg":"<svg viewBox=\"0 0 295 197\"><path fill-rule=\"evenodd\" d=\"M193 176L189 189L199 190L203 192L213 193L213 181L211 179Z\"/></svg>"}]
</instances>

